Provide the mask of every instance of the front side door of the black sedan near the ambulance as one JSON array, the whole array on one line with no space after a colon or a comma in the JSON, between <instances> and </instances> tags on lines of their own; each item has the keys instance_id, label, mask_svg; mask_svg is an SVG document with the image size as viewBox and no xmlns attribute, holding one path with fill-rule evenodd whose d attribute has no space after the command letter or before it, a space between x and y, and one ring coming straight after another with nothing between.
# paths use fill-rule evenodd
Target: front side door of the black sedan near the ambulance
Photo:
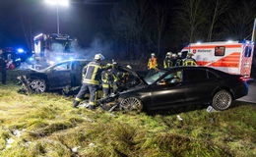
<instances>
[{"instance_id":1,"label":"front side door of the black sedan near the ambulance","mask_svg":"<svg viewBox=\"0 0 256 157\"><path fill-rule=\"evenodd\" d=\"M183 104L186 88L182 78L182 71L170 72L152 85L152 108L161 109Z\"/></svg>"}]
</instances>

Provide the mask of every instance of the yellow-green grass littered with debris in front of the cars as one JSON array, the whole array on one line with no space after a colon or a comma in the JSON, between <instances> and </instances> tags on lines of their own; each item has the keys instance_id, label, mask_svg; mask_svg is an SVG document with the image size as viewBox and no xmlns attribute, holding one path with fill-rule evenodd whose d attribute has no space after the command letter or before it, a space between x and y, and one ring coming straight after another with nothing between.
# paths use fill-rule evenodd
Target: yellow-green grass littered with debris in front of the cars
<instances>
[{"instance_id":1,"label":"yellow-green grass littered with debris in front of the cars","mask_svg":"<svg viewBox=\"0 0 256 157\"><path fill-rule=\"evenodd\" d=\"M3 157L256 156L253 104L236 102L224 112L183 112L179 121L176 112L150 116L73 109L72 98L22 95L17 90L15 85L0 85ZM17 130L24 130L21 136L15 135ZM10 138L14 142L7 148Z\"/></svg>"}]
</instances>

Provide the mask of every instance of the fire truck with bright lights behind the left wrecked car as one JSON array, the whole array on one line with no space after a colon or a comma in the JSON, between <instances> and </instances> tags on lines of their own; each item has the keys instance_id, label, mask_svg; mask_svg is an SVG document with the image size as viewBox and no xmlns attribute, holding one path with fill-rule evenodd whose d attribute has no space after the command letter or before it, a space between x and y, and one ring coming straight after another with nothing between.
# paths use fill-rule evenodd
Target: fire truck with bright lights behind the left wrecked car
<instances>
[{"instance_id":1,"label":"fire truck with bright lights behind the left wrecked car","mask_svg":"<svg viewBox=\"0 0 256 157\"><path fill-rule=\"evenodd\" d=\"M33 59L39 65L52 65L79 57L74 52L77 40L67 34L40 33L33 38Z\"/></svg>"}]
</instances>

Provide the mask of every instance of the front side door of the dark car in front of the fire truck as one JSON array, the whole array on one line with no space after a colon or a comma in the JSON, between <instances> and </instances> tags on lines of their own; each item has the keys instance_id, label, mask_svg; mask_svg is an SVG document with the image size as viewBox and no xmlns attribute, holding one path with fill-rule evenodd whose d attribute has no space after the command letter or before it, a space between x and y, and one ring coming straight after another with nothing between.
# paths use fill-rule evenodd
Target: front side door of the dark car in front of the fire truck
<instances>
[{"instance_id":1,"label":"front side door of the dark car in front of the fire truck","mask_svg":"<svg viewBox=\"0 0 256 157\"><path fill-rule=\"evenodd\" d=\"M71 85L71 62L54 66L47 75L50 88L59 89Z\"/></svg>"}]
</instances>

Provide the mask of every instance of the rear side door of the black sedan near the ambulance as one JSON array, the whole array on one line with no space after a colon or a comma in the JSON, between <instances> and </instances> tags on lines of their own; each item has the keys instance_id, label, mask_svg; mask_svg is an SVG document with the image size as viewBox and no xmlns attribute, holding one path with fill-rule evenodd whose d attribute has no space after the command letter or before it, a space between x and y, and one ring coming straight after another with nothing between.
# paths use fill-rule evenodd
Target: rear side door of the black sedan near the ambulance
<instances>
[{"instance_id":1,"label":"rear side door of the black sedan near the ambulance","mask_svg":"<svg viewBox=\"0 0 256 157\"><path fill-rule=\"evenodd\" d=\"M209 76L211 75L211 78ZM215 74L205 69L185 69L183 71L183 83L187 88L185 103L207 103L212 99L212 94L218 86Z\"/></svg>"}]
</instances>

